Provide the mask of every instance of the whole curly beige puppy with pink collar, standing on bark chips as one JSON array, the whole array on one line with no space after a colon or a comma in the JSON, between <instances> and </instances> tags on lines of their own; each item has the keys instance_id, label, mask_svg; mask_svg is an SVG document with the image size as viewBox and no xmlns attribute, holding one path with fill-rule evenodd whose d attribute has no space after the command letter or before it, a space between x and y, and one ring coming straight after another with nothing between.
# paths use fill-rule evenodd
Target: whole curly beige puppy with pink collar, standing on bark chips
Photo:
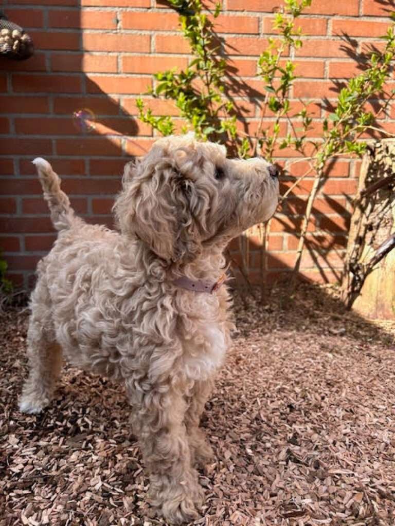
<instances>
[{"instance_id":1,"label":"whole curly beige puppy with pink collar, standing on bark chips","mask_svg":"<svg viewBox=\"0 0 395 526\"><path fill-rule=\"evenodd\" d=\"M193 466L211 456L199 420L232 328L223 250L273 214L276 170L192 135L162 138L125 167L118 233L76 217L50 164L34 164L59 234L38 265L19 407L50 403L62 352L123 381L151 500L169 522L192 520L203 499Z\"/></svg>"}]
</instances>

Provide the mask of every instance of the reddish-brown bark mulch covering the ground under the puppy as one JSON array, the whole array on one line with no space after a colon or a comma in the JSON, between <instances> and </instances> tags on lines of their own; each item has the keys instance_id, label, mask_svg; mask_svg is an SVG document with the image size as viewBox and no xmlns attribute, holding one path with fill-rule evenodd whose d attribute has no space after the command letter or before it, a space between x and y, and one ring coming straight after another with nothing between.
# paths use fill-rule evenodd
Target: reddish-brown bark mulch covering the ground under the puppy
<instances>
[{"instance_id":1,"label":"reddish-brown bark mulch covering the ground under the puppy","mask_svg":"<svg viewBox=\"0 0 395 526\"><path fill-rule=\"evenodd\" d=\"M395 524L393 325L322 289L236 299L238 333L202 426L206 526ZM284 309L284 305L287 309ZM163 524L122 389L65 367L51 407L17 410L26 311L0 318L0 526Z\"/></svg>"}]
</instances>

